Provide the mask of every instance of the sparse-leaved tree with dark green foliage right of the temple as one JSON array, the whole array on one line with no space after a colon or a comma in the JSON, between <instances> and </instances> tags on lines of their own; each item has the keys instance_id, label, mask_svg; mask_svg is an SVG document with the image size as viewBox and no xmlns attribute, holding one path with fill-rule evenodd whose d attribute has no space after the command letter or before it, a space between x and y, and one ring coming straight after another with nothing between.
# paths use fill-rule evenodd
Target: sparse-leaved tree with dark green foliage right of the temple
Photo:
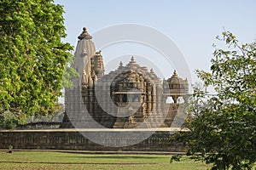
<instances>
[{"instance_id":1,"label":"sparse-leaved tree with dark green foliage right of the temple","mask_svg":"<svg viewBox=\"0 0 256 170\"><path fill-rule=\"evenodd\" d=\"M256 161L256 42L240 45L230 31L218 40L227 48L215 49L211 71L196 71L207 87L215 88L216 95L207 97L195 88L189 132L177 133L176 139L187 144L189 156L212 163L212 169L252 169Z\"/></svg>"}]
</instances>

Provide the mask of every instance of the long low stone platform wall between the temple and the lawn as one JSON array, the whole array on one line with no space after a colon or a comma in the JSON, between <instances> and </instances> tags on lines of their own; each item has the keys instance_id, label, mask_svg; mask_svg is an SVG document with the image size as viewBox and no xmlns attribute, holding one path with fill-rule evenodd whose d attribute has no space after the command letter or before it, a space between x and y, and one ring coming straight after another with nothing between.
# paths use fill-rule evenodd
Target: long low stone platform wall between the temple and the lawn
<instances>
[{"instance_id":1,"label":"long low stone platform wall between the temple and the lawn","mask_svg":"<svg viewBox=\"0 0 256 170\"><path fill-rule=\"evenodd\" d=\"M129 130L116 129L108 132L109 137L106 140L115 142L123 140L127 142L125 147L109 147L102 144L96 144L84 137L84 133L99 135L101 130L77 130L77 129L51 129L51 130L14 130L0 131L0 149L6 150L12 145L16 150L123 150L123 151L184 151L182 144L170 143L170 131L157 130L148 139L129 145L128 140L140 140L144 138L143 134L148 130L137 131L137 136L129 138L120 137L117 134L129 134ZM131 132L130 132L131 133ZM101 136L98 136L99 138Z\"/></svg>"}]
</instances>

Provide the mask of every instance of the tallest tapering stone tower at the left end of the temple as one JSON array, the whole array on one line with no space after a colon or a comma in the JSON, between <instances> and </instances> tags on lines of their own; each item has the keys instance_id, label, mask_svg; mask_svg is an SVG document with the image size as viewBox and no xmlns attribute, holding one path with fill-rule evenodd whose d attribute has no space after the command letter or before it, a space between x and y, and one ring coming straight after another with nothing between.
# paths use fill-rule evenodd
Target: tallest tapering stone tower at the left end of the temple
<instances>
[{"instance_id":1,"label":"tallest tapering stone tower at the left end of the temple","mask_svg":"<svg viewBox=\"0 0 256 170\"><path fill-rule=\"evenodd\" d=\"M78 38L79 42L74 54L75 59L72 67L79 73L79 77L73 78L73 88L65 89L66 115L61 127L73 127L71 122L73 122L75 127L79 127L82 124L81 121L87 119L83 117L84 99L82 99L82 88L91 88L94 83L91 75L90 60L96 55L95 44L91 41L92 37L85 27ZM92 99L92 97L90 98Z\"/></svg>"}]
</instances>

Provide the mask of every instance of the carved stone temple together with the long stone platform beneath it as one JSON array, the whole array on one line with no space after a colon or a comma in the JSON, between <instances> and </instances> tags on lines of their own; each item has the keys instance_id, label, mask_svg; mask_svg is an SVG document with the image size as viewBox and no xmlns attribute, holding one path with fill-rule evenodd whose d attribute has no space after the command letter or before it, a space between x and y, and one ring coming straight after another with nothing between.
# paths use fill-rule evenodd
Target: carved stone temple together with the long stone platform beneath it
<instances>
[{"instance_id":1,"label":"carved stone temple together with the long stone platform beneath it","mask_svg":"<svg viewBox=\"0 0 256 170\"><path fill-rule=\"evenodd\" d=\"M187 79L170 71L161 80L136 56L105 74L101 51L85 28L72 67L79 77L65 89L61 128L0 131L0 149L184 151L183 144L170 143L170 135L187 117Z\"/></svg>"}]
</instances>

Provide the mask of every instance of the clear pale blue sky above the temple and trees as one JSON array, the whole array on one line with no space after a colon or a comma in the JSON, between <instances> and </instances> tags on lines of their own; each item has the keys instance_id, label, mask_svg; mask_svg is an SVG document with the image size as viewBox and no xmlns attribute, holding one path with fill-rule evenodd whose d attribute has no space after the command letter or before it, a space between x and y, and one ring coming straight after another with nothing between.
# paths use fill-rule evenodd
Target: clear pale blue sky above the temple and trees
<instances>
[{"instance_id":1,"label":"clear pale blue sky above the temple and trees","mask_svg":"<svg viewBox=\"0 0 256 170\"><path fill-rule=\"evenodd\" d=\"M124 24L148 26L160 31L183 54L191 75L190 83L199 81L195 69L209 71L214 50L212 43L218 45L216 37L222 31L231 31L241 43L253 42L256 38L256 1L253 0L55 0L55 3L63 5L66 12L67 37L63 41L74 47L84 26L92 36L102 29ZM104 38L109 36L115 35ZM224 46L219 44L218 47ZM97 44L96 49L99 49ZM166 64L160 51L142 43L113 43L102 48L102 55L106 73L117 68L120 59L126 59L126 64L131 55L139 64L154 68L161 78L171 77L173 70L177 69L177 65Z\"/></svg>"}]
</instances>

